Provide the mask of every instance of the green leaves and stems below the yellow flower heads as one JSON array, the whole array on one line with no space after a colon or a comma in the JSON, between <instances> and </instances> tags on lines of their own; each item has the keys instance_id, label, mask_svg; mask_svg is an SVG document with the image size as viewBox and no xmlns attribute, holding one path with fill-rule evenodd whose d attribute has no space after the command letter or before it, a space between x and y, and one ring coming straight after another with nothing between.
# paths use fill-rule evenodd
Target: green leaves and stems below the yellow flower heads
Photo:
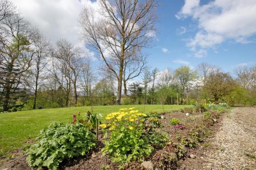
<instances>
[{"instance_id":1,"label":"green leaves and stems below the yellow flower heads","mask_svg":"<svg viewBox=\"0 0 256 170\"><path fill-rule=\"evenodd\" d=\"M154 148L143 134L144 126L139 124L136 129L125 126L115 128L109 140L105 140L103 153L108 153L114 162L130 162L142 160L153 152Z\"/></svg>"}]
</instances>

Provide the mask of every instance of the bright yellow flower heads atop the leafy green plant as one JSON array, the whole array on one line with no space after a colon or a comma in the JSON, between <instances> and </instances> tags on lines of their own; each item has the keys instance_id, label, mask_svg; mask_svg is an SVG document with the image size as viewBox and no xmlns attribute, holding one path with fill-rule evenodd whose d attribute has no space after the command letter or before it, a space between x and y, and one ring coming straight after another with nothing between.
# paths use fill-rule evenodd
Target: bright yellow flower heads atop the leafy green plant
<instances>
[{"instance_id":1,"label":"bright yellow flower heads atop the leafy green plant","mask_svg":"<svg viewBox=\"0 0 256 170\"><path fill-rule=\"evenodd\" d=\"M119 112L113 112L106 115L106 122L108 124L108 127L110 127L110 130L113 130L115 128L116 122L120 122L121 120L129 120L130 122L134 122L140 117L144 116L146 116L146 114L139 113L139 111L135 110L135 108L123 108L119 109ZM104 124L101 126L103 128L106 127ZM133 127L129 127L129 129L133 130Z\"/></svg>"}]
</instances>

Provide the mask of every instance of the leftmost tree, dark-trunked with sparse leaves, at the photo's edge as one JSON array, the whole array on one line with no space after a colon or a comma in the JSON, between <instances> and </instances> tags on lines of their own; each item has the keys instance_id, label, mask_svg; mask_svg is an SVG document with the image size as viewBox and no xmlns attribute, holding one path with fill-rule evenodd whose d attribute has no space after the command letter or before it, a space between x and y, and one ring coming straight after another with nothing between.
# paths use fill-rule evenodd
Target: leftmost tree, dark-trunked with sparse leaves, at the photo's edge
<instances>
[{"instance_id":1,"label":"leftmost tree, dark-trunked with sparse leaves, at the photo's edge","mask_svg":"<svg viewBox=\"0 0 256 170\"><path fill-rule=\"evenodd\" d=\"M12 4L9 3L9 5L10 9L15 9ZM31 66L32 57L35 54L34 30L28 21L15 11L12 12L9 16L2 17L0 21L0 84L4 111L10 108L12 96L22 83L22 77Z\"/></svg>"}]
</instances>

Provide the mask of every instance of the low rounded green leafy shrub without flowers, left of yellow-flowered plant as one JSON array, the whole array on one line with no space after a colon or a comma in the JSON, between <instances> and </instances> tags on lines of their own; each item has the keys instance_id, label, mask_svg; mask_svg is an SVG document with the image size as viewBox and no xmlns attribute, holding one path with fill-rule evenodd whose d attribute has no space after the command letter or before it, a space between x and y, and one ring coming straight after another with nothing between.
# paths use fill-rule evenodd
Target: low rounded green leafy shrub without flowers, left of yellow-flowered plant
<instances>
[{"instance_id":1,"label":"low rounded green leafy shrub without flowers, left of yellow-flowered plant","mask_svg":"<svg viewBox=\"0 0 256 170\"><path fill-rule=\"evenodd\" d=\"M85 155L96 145L95 135L79 123L53 123L37 139L27 151L27 162L38 168L56 169L63 160Z\"/></svg>"}]
</instances>

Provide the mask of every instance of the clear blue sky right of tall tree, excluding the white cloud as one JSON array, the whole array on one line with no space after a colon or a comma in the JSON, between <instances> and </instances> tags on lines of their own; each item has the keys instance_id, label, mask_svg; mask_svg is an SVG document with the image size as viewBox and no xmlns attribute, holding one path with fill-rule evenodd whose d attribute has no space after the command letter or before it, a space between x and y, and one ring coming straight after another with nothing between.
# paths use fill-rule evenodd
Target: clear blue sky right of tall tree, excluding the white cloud
<instances>
[{"instance_id":1,"label":"clear blue sky right of tall tree, excluding the white cloud","mask_svg":"<svg viewBox=\"0 0 256 170\"><path fill-rule=\"evenodd\" d=\"M254 42L241 43L228 38L222 43L206 48L207 54L201 58L195 57L195 52L189 50L186 43L189 38L195 37L199 32L198 21L191 17L177 19L175 16L182 9L184 3L184 1L162 1L162 5L158 9L158 40L154 42L153 48L145 50L150 54L148 57L149 65L164 69L166 67L177 68L184 65L185 62L188 62L191 67L196 67L200 62L208 62L222 67L224 71L231 72L238 65L250 66L255 64L255 33L249 36L250 39L254 39ZM200 2L201 4L208 4L208 1ZM184 28L186 32L181 34ZM162 52L163 48L168 51Z\"/></svg>"}]
</instances>

